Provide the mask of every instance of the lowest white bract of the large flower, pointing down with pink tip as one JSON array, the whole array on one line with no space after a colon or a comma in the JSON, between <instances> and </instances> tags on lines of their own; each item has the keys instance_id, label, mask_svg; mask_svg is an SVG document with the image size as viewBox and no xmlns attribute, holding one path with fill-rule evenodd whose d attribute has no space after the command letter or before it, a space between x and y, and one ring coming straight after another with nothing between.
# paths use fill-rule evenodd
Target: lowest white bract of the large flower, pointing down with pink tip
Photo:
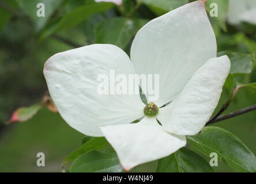
<instances>
[{"instance_id":1,"label":"lowest white bract of the large flower, pointing down with pink tip","mask_svg":"<svg viewBox=\"0 0 256 184\"><path fill-rule=\"evenodd\" d=\"M168 156L186 145L185 136L164 132L155 117L144 117L136 124L101 127L101 131L126 171Z\"/></svg>"}]
</instances>

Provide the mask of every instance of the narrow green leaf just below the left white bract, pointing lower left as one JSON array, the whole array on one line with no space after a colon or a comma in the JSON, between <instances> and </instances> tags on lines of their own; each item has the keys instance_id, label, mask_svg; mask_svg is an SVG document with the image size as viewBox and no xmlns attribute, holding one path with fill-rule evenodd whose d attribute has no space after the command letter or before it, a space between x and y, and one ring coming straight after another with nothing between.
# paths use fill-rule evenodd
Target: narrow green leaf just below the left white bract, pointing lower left
<instances>
[{"instance_id":1,"label":"narrow green leaf just below the left white bract, pointing lower left","mask_svg":"<svg viewBox=\"0 0 256 184\"><path fill-rule=\"evenodd\" d=\"M81 145L80 148L71 152L65 159L66 163L72 162L78 156L85 154L86 152L99 150L100 148L108 145L108 141L104 137L94 137L91 140L88 140L85 144Z\"/></svg>"}]
</instances>

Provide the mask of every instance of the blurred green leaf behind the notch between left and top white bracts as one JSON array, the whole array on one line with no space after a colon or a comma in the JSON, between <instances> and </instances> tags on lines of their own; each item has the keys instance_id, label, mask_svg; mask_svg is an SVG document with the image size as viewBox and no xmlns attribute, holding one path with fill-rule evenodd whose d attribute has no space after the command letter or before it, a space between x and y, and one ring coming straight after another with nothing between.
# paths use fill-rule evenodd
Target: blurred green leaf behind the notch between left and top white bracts
<instances>
[{"instance_id":1,"label":"blurred green leaf behind the notch between left and top white bracts","mask_svg":"<svg viewBox=\"0 0 256 184\"><path fill-rule=\"evenodd\" d=\"M125 17L108 19L96 26L95 41L99 44L113 44L125 49L129 41L146 22L146 20Z\"/></svg>"}]
</instances>

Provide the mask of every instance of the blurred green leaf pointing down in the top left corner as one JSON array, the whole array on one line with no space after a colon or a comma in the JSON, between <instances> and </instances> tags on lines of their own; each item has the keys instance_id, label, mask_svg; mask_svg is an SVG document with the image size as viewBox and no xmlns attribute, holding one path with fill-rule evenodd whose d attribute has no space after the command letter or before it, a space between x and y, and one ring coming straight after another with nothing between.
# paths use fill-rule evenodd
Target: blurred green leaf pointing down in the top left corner
<instances>
[{"instance_id":1,"label":"blurred green leaf pointing down in the top left corner","mask_svg":"<svg viewBox=\"0 0 256 184\"><path fill-rule=\"evenodd\" d=\"M36 30L40 30L46 25L54 10L61 5L62 0L16 0L18 6L33 20ZM45 17L37 17L37 3L44 3Z\"/></svg>"}]
</instances>

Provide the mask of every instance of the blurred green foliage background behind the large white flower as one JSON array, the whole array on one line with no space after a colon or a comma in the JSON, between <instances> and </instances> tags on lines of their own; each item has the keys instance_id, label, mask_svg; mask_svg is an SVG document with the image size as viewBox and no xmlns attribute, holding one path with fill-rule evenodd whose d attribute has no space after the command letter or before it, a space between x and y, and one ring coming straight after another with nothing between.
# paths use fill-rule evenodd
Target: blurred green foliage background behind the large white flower
<instances>
[{"instance_id":1,"label":"blurred green foliage background behind the large white flower","mask_svg":"<svg viewBox=\"0 0 256 184\"><path fill-rule=\"evenodd\" d=\"M229 25L225 20L227 4L220 1L215 2L221 7L221 17L210 17L218 51L247 53L254 60L256 27ZM46 17L36 16L39 2L46 5ZM131 41L141 26L187 2L129 0L116 6L91 0L0 0L0 172L59 172L65 156L82 144L84 135L46 106L28 121L9 123L14 110L40 103L47 93L43 64L48 57L92 43L115 44L129 54ZM237 78L256 82L255 67L251 74ZM226 100L224 89L217 109ZM255 103L255 95L245 89L239 91L227 112ZM234 133L256 154L256 112L213 125ZM45 167L36 166L37 152L46 155ZM154 171L155 167L156 162L152 162L137 170ZM230 171L223 163L214 170Z\"/></svg>"}]
</instances>

